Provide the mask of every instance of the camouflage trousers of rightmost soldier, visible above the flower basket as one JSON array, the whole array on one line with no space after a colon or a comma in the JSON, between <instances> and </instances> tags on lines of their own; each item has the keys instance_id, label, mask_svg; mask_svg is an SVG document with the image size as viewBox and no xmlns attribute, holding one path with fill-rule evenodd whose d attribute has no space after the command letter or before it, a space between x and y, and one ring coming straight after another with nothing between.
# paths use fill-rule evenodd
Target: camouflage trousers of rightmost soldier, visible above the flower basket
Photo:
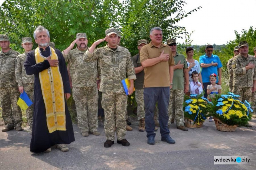
<instances>
[{"instance_id":1,"label":"camouflage trousers of rightmost soldier, visible above the flower basket","mask_svg":"<svg viewBox=\"0 0 256 170\"><path fill-rule=\"evenodd\" d=\"M238 98L241 101L251 101L251 96L252 96L252 87L233 87L232 90L233 94L239 95L240 97Z\"/></svg>"}]
</instances>

